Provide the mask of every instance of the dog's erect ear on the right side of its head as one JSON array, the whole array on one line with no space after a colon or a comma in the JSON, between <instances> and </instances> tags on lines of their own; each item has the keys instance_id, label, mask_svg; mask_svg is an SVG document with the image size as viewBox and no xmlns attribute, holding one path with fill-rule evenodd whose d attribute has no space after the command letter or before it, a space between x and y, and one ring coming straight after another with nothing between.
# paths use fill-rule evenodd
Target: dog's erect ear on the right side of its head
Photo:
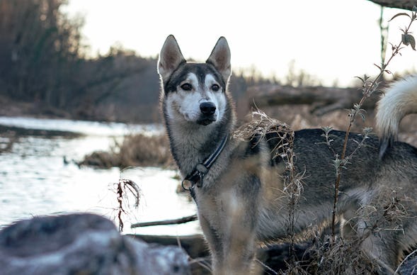
<instances>
[{"instance_id":1,"label":"dog's erect ear on the right side of its head","mask_svg":"<svg viewBox=\"0 0 417 275\"><path fill-rule=\"evenodd\" d=\"M222 74L224 81L227 82L230 74L232 74L232 69L230 67L230 49L226 38L222 36L217 40L217 43L206 62L213 64L213 66L215 66Z\"/></svg>"}]
</instances>

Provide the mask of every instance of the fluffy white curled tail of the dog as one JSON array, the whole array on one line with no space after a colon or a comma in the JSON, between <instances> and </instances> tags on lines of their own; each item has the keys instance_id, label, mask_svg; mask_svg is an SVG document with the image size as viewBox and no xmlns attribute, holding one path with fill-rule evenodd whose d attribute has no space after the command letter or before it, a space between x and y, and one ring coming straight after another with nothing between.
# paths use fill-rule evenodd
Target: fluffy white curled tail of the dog
<instances>
[{"instance_id":1,"label":"fluffy white curled tail of the dog","mask_svg":"<svg viewBox=\"0 0 417 275\"><path fill-rule=\"evenodd\" d=\"M379 157L383 157L398 135L401 119L417 113L417 75L411 75L390 86L378 102L376 124L380 137Z\"/></svg>"}]
</instances>

